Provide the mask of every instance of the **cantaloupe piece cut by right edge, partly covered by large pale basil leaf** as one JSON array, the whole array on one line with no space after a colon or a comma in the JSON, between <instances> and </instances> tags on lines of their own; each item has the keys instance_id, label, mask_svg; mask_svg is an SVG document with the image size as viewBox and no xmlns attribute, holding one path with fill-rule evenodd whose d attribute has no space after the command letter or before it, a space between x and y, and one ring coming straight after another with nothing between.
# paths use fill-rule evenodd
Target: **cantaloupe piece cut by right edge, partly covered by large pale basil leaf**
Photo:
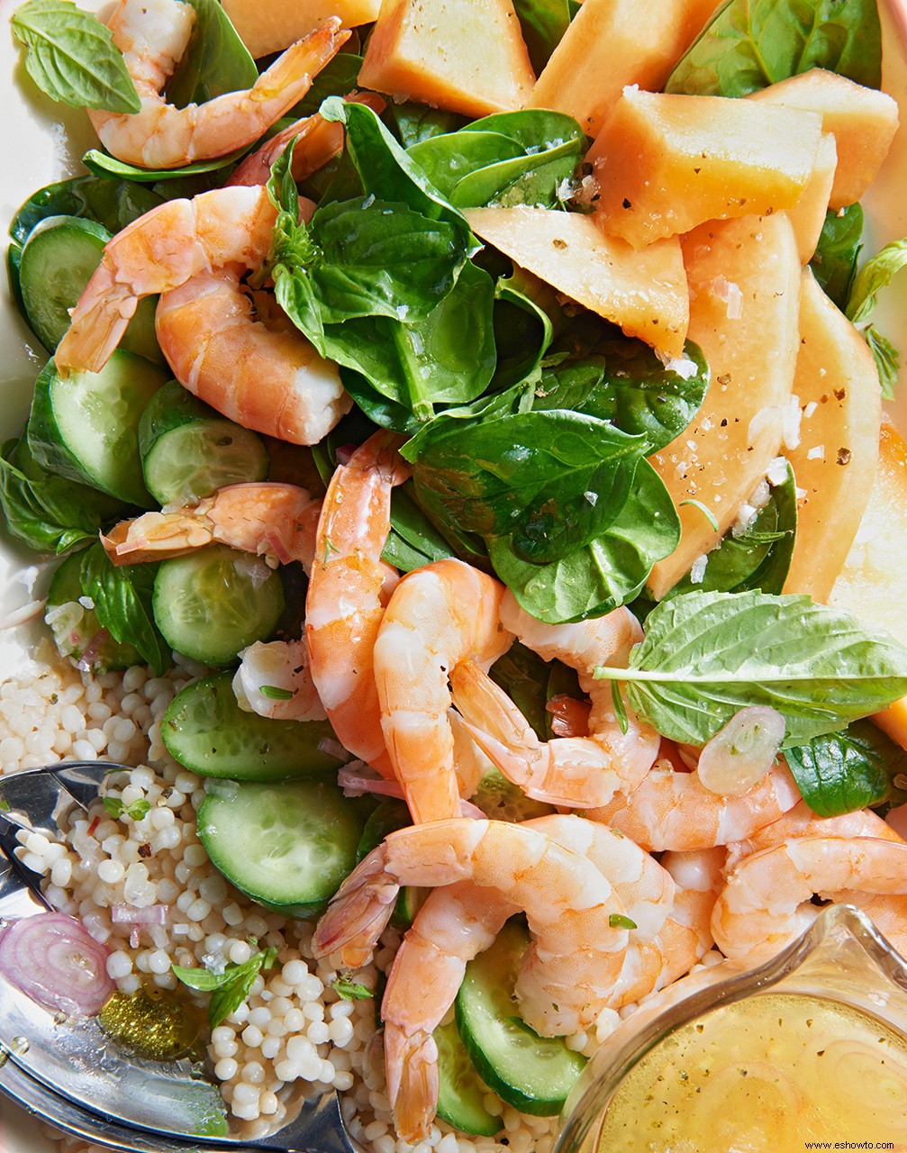
<instances>
[{"instance_id":1,"label":"cantaloupe piece cut by right edge, partly covered by large pale basil leaf","mask_svg":"<svg viewBox=\"0 0 907 1153\"><path fill-rule=\"evenodd\" d=\"M869 504L829 604L907 645L907 444L889 421ZM907 696L874 719L907 748Z\"/></svg>"}]
</instances>

